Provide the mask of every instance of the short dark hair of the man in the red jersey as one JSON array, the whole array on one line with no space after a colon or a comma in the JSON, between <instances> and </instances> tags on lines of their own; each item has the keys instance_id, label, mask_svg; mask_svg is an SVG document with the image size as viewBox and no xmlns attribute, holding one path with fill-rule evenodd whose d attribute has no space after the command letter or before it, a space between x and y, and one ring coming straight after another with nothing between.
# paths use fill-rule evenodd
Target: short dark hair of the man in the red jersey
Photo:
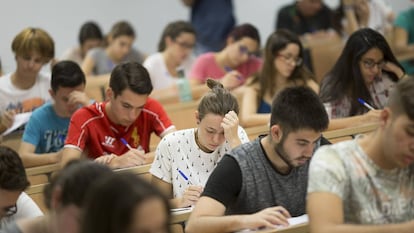
<instances>
[{"instance_id":1,"label":"short dark hair of the man in the red jersey","mask_svg":"<svg viewBox=\"0 0 414 233\"><path fill-rule=\"evenodd\" d=\"M140 95L149 95L153 89L147 69L133 61L121 63L112 70L109 87L114 92L114 97L125 89Z\"/></svg>"}]
</instances>

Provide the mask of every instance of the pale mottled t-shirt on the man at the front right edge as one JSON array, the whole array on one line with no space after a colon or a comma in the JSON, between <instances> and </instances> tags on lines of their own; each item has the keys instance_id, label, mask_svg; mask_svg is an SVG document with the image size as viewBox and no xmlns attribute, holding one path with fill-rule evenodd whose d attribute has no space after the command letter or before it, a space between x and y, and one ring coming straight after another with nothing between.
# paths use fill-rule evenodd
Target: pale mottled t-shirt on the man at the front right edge
<instances>
[{"instance_id":1,"label":"pale mottled t-shirt on the man at the front right edge","mask_svg":"<svg viewBox=\"0 0 414 233\"><path fill-rule=\"evenodd\" d=\"M414 165L381 169L359 146L358 138L316 152L309 169L308 193L329 192L341 198L345 223L414 219Z\"/></svg>"}]
</instances>

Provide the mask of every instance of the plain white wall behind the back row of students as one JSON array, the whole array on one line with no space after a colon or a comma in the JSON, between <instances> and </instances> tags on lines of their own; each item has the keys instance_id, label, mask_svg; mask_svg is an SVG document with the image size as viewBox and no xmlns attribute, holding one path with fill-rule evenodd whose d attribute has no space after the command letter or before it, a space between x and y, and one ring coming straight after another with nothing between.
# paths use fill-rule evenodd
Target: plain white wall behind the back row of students
<instances>
[{"instance_id":1,"label":"plain white wall behind the back row of students","mask_svg":"<svg viewBox=\"0 0 414 233\"><path fill-rule=\"evenodd\" d=\"M234 0L238 23L250 22L260 31L262 44L273 31L276 11L293 0ZM335 7L339 0L325 0ZM410 0L388 0L399 12ZM104 32L118 20L128 20L138 34L135 46L153 53L164 26L188 19L189 9L181 0L1 0L0 57L4 72L15 69L11 41L25 27L41 27L55 40L56 56L77 44L79 27L87 20L100 24Z\"/></svg>"}]
</instances>

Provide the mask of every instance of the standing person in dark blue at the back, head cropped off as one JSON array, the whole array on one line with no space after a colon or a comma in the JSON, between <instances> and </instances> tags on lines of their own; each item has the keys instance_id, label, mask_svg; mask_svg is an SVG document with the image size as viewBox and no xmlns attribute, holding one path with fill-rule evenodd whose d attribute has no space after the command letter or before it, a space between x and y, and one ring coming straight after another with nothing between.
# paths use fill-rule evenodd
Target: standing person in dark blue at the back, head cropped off
<instances>
[{"instance_id":1,"label":"standing person in dark blue at the back, head cropped off","mask_svg":"<svg viewBox=\"0 0 414 233\"><path fill-rule=\"evenodd\" d=\"M195 54L218 52L236 24L233 0L182 0L191 8L191 24L197 32Z\"/></svg>"}]
</instances>

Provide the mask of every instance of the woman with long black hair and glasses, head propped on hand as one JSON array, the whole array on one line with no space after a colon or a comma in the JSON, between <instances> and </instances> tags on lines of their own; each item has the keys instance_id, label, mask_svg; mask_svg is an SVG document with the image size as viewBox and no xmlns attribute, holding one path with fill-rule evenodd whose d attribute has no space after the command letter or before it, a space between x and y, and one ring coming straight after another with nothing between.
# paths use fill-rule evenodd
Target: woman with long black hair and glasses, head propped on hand
<instances>
[{"instance_id":1,"label":"woman with long black hair and glasses, head propped on hand","mask_svg":"<svg viewBox=\"0 0 414 233\"><path fill-rule=\"evenodd\" d=\"M322 80L321 99L329 118L329 129L378 122L380 108L389 92L404 77L385 38L369 28L354 32L332 70ZM370 110L362 99L377 110Z\"/></svg>"}]
</instances>

